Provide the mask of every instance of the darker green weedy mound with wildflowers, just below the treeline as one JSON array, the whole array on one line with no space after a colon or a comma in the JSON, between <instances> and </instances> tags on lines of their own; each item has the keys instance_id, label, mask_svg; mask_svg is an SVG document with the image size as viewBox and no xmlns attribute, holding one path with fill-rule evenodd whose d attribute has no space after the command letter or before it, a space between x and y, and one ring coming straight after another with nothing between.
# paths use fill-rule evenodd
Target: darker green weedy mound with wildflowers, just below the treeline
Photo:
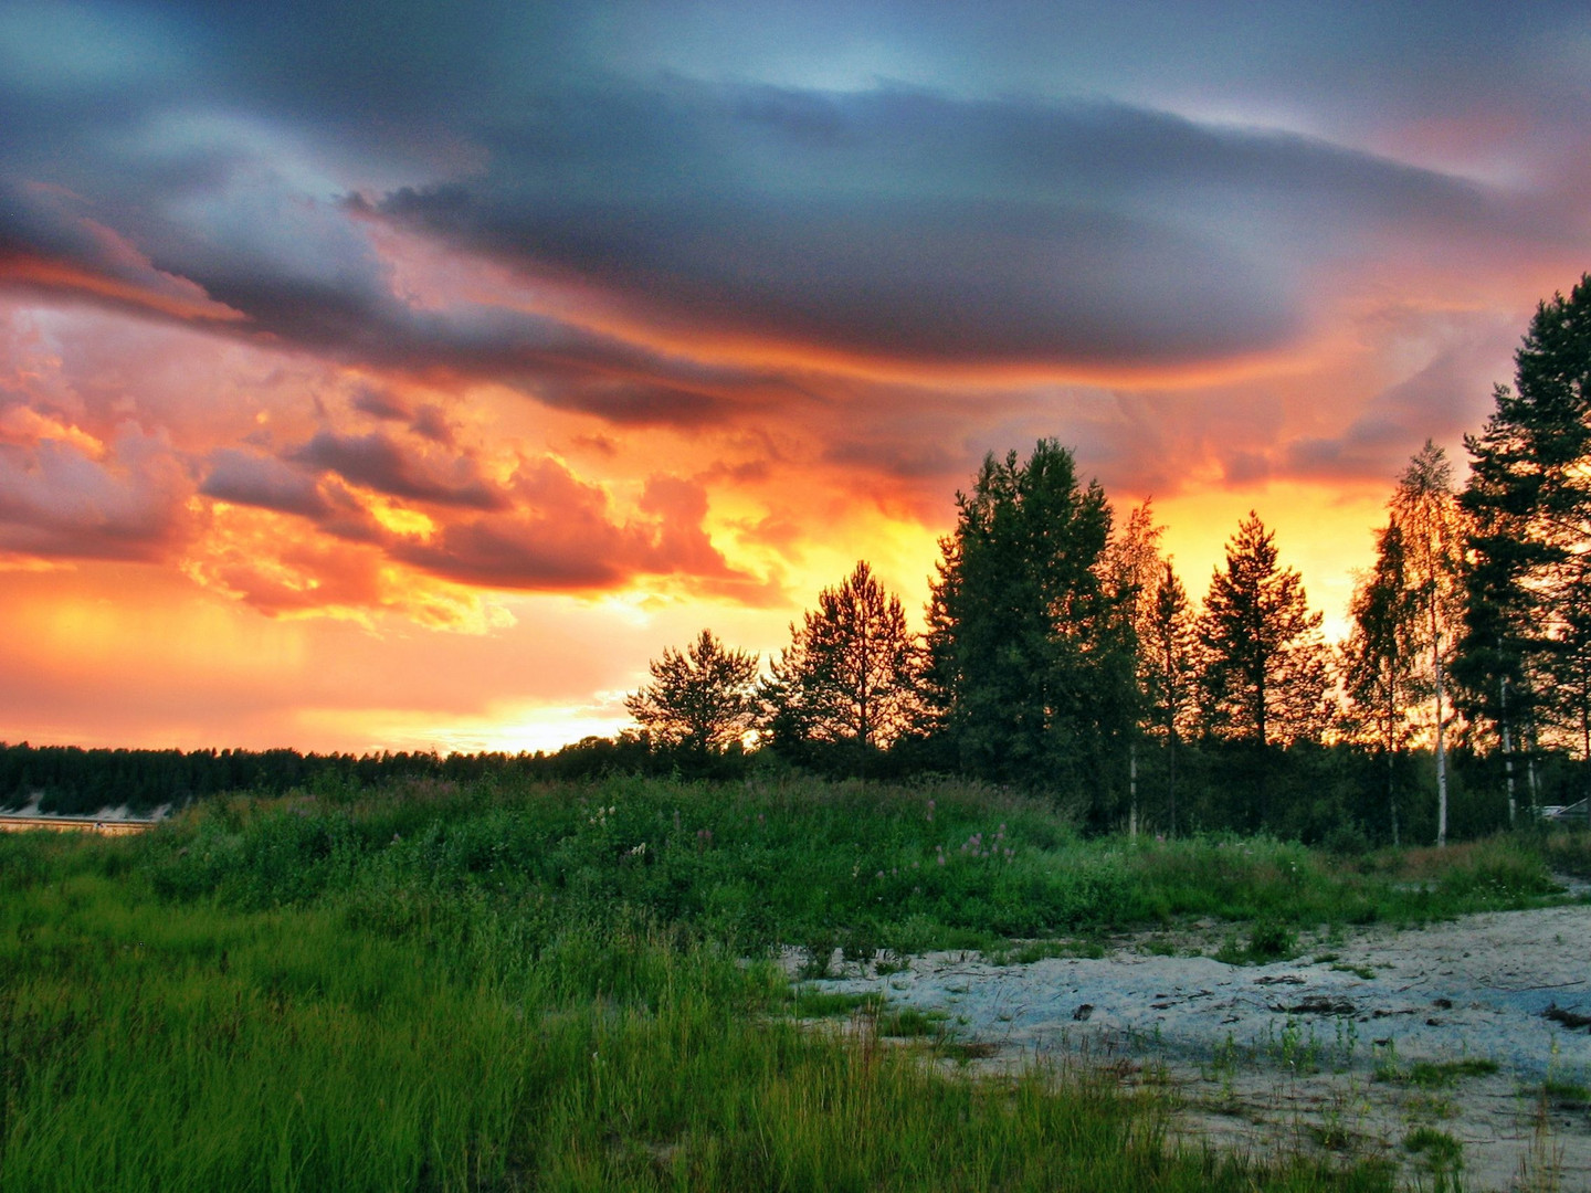
<instances>
[{"instance_id":1,"label":"darker green weedy mound with wildflowers, just below the treeline","mask_svg":"<svg viewBox=\"0 0 1591 1193\"><path fill-rule=\"evenodd\" d=\"M1039 802L975 786L415 783L337 799L226 800L143 843L169 899L269 908L328 891L375 931L460 896L520 908L646 908L743 950L921 951L1185 915L1398 923L1553 892L1492 840L1357 864L1270 838L1082 840Z\"/></svg>"}]
</instances>

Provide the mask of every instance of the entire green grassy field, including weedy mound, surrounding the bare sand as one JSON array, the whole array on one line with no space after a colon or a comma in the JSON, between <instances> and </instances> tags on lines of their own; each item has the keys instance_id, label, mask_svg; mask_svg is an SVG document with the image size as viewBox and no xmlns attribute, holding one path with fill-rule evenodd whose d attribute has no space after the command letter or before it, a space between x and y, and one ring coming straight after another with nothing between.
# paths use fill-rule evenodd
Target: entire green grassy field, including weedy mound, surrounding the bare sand
<instances>
[{"instance_id":1,"label":"entire green grassy field, including weedy mound, surrounding the bare sand","mask_svg":"<svg viewBox=\"0 0 1591 1193\"><path fill-rule=\"evenodd\" d=\"M792 1008L835 1008L759 958L1550 892L1519 841L1083 841L948 784L418 784L234 797L137 838L11 834L0 1188L1387 1188L1174 1152L1169 1099L1101 1077L974 1080L867 1016L811 1031Z\"/></svg>"}]
</instances>

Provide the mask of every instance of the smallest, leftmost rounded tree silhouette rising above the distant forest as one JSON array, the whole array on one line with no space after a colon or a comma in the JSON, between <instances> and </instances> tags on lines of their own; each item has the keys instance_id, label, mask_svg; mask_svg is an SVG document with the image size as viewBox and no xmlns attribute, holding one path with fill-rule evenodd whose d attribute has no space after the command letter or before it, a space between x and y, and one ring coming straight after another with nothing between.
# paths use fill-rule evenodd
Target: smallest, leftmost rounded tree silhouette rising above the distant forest
<instances>
[{"instance_id":1,"label":"smallest, leftmost rounded tree silhouette rising above the distant forest","mask_svg":"<svg viewBox=\"0 0 1591 1193\"><path fill-rule=\"evenodd\" d=\"M624 706L655 741L694 752L719 752L753 727L757 655L730 651L711 630L679 652L648 663L652 682Z\"/></svg>"}]
</instances>

